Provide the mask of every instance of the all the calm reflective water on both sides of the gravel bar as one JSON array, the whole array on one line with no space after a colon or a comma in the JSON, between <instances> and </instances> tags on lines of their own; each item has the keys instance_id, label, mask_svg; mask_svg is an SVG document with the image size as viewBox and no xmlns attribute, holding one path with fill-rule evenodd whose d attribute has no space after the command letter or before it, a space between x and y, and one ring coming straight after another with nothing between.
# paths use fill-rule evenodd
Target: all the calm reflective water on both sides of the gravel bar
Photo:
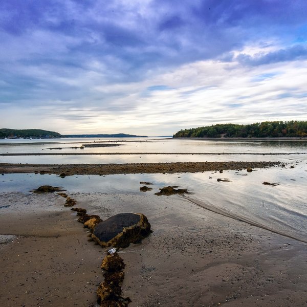
<instances>
[{"instance_id":1,"label":"all the calm reflective water on both sides of the gravel bar","mask_svg":"<svg viewBox=\"0 0 307 307\"><path fill-rule=\"evenodd\" d=\"M97 139L2 140L0 152L72 152L81 149L64 147L81 146ZM6 142L5 142L6 141ZM7 142L9 141L9 142ZM34 141L34 142L33 142ZM108 140L103 140L108 142ZM113 140L114 141L114 140ZM4 174L0 177L0 192L24 191L42 184L62 186L69 192L103 192L143 194L140 181L152 182L153 194L159 188L176 185L188 188L191 194L184 199L195 206L244 221L256 227L307 242L307 142L214 142L199 140L147 139L118 140L117 147L84 148L85 152L138 152L137 155L101 156L17 156L0 157L0 162L16 163L127 163L176 161L281 161L286 167L246 170L183 173L183 174L126 174L109 176L71 176L64 179L55 175ZM9 144L4 144L9 143ZM172 155L146 155L148 152L173 153ZM197 155L196 153L204 153ZM181 154L180 154L181 153ZM183 155L183 153L190 153ZM194 155L192 155L194 153ZM224 153L226 153L224 155ZM238 155L235 153L246 153ZM272 153L272 155L262 155ZM255 155L256 154L256 155ZM294 166L291 168L290 165ZM217 179L230 182L217 182ZM278 183L266 186L262 182ZM156 196L157 198L159 196ZM167 196L160 196L167 197ZM171 198L181 196L173 195ZM0 206L1 212L1 206Z\"/></svg>"}]
</instances>

